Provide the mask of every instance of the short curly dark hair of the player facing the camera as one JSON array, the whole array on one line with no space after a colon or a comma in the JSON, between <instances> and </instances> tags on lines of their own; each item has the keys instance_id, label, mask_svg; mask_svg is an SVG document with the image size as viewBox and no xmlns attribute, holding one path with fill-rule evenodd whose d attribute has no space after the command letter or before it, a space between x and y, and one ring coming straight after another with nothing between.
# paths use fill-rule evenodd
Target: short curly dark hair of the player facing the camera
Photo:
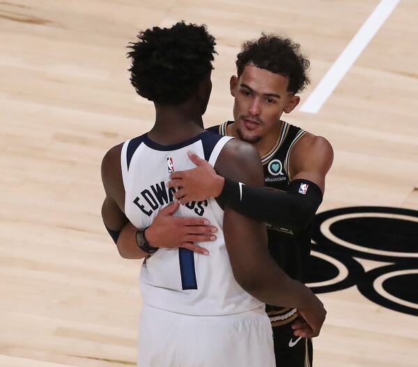
<instances>
[{"instance_id":1,"label":"short curly dark hair of the player facing the camera","mask_svg":"<svg viewBox=\"0 0 418 367\"><path fill-rule=\"evenodd\" d=\"M309 60L300 53L300 45L290 38L262 33L258 40L245 42L237 56L238 77L249 64L288 77L291 93L300 93L311 83L307 75Z\"/></svg>"}]
</instances>

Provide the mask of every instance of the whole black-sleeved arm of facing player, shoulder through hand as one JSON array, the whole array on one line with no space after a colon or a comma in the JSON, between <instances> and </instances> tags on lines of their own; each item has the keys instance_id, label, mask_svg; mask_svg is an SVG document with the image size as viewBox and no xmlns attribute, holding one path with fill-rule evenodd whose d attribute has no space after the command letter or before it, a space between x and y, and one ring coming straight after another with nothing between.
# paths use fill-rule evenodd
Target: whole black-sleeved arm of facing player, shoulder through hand
<instances>
[{"instance_id":1,"label":"whole black-sleeved arm of facing player, shoulder through hand","mask_svg":"<svg viewBox=\"0 0 418 367\"><path fill-rule=\"evenodd\" d=\"M330 143L309 134L292 150L289 169L293 180L286 192L249 185L240 185L218 175L203 159L190 154L196 169L173 173L170 186L180 187L176 197L180 202L219 197L231 208L254 219L302 230L314 218L322 202L325 175L332 164Z\"/></svg>"}]
</instances>

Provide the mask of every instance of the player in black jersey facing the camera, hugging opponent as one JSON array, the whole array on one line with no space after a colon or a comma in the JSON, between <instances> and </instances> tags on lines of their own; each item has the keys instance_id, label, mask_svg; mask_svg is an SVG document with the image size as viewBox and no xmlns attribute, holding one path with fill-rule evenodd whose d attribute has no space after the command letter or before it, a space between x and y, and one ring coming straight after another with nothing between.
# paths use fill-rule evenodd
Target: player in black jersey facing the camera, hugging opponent
<instances>
[{"instance_id":1,"label":"player in black jersey facing the camera, hugging opponent","mask_svg":"<svg viewBox=\"0 0 418 367\"><path fill-rule=\"evenodd\" d=\"M253 144L261 155L265 187L280 191L231 182L195 155L190 157L198 168L174 173L169 186L180 187L180 203L219 197L242 214L265 221L270 254L289 276L305 281L311 222L322 201L333 151L326 139L289 125L281 115L300 102L297 93L309 83L309 61L292 40L263 35L245 42L236 65L238 76L231 77L234 121L210 130ZM277 366L311 366L311 339L293 337L292 328L303 322L296 311L277 306L266 311Z\"/></svg>"}]
</instances>

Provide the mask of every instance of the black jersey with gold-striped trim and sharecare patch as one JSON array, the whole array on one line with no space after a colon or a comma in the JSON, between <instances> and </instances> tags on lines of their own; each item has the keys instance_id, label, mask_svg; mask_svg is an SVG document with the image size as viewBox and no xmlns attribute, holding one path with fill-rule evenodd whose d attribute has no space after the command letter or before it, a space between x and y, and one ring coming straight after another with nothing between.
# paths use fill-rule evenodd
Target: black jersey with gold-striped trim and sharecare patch
<instances>
[{"instance_id":1,"label":"black jersey with gold-striped trim and sharecare patch","mask_svg":"<svg viewBox=\"0 0 418 367\"><path fill-rule=\"evenodd\" d=\"M226 121L222 125L210 127L209 130L227 135L226 127L233 121ZM300 127L281 123L281 131L272 149L261 158L264 171L264 186L286 191L291 177L288 173L289 157L295 143L307 132ZM280 208L277 208L280 210ZM268 249L277 264L291 278L304 282L307 275L309 253L311 251L311 224L303 231L293 233L287 228L278 228L268 224ZM274 325L290 321L295 310L267 306L270 319ZM293 318L292 318L293 319Z\"/></svg>"}]
</instances>

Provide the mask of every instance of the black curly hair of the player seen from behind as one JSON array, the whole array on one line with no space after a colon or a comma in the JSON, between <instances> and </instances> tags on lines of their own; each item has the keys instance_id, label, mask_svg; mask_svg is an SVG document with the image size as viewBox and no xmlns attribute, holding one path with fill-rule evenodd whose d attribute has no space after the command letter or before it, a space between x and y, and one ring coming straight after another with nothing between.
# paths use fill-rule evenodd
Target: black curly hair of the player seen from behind
<instances>
[{"instance_id":1,"label":"black curly hair of the player seen from behind","mask_svg":"<svg viewBox=\"0 0 418 367\"><path fill-rule=\"evenodd\" d=\"M158 104L180 104L196 92L212 70L215 38L206 26L178 22L153 27L130 42L130 81L142 97Z\"/></svg>"}]
</instances>

